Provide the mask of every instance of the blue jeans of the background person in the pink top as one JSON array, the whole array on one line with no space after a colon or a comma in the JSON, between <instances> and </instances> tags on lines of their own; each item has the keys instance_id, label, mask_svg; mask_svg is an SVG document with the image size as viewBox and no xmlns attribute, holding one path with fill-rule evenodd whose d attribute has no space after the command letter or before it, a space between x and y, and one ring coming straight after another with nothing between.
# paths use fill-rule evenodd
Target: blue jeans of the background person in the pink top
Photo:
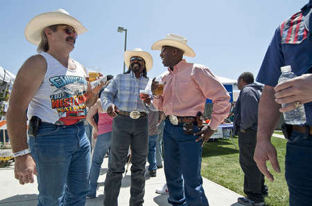
<instances>
[{"instance_id":1,"label":"blue jeans of the background person in the pink top","mask_svg":"<svg viewBox=\"0 0 312 206\"><path fill-rule=\"evenodd\" d=\"M96 188L98 187L98 176L100 175L101 165L103 158L110 149L112 132L103 133L96 138L96 145L94 147L94 153L92 156L92 165L90 170L90 191L88 196L96 196ZM110 156L109 156L110 162Z\"/></svg>"}]
</instances>

